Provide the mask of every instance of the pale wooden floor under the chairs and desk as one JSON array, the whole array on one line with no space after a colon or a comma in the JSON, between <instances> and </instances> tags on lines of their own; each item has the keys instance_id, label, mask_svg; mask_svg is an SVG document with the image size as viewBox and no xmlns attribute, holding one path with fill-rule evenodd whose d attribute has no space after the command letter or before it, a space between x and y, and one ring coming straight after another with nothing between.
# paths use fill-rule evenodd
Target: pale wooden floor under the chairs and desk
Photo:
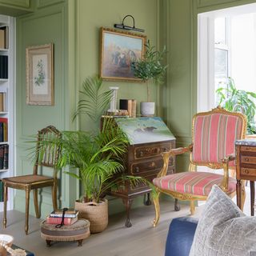
<instances>
[{"instance_id":1,"label":"pale wooden floor under the chairs and desk","mask_svg":"<svg viewBox=\"0 0 256 256\"><path fill-rule=\"evenodd\" d=\"M250 214L249 202L250 196L247 196L246 214ZM2 230L1 225L0 233L13 235L15 244L34 252L36 256L162 256L171 219L190 214L189 206L181 206L182 210L175 212L173 202L161 202L161 218L155 228L151 225L154 219L153 205L132 210L133 226L130 228L124 226L125 213L112 215L107 229L100 234L92 234L83 242L82 247L78 247L77 242L54 242L51 247L46 247L46 242L40 237L41 221L30 216L30 230L26 236L24 214L14 210L8 212L7 228ZM202 208L203 206L197 207L195 218L200 216ZM0 221L2 222L2 213Z\"/></svg>"}]
</instances>

